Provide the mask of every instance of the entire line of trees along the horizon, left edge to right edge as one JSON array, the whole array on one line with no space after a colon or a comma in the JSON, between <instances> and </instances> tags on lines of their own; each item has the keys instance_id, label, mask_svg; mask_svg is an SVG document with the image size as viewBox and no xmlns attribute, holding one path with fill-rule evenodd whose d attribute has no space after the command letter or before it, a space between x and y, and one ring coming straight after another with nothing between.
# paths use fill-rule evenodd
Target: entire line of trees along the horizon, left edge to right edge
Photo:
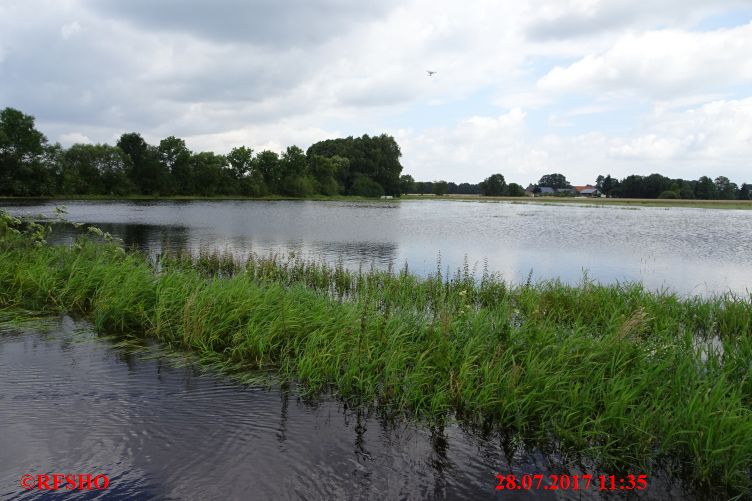
<instances>
[{"instance_id":1,"label":"entire line of trees along the horizon, left edge to right edge","mask_svg":"<svg viewBox=\"0 0 752 501\"><path fill-rule=\"evenodd\" d=\"M415 181L400 175L401 151L393 137L363 135L328 139L307 151L254 152L240 146L226 155L192 152L183 139L170 136L148 144L136 132L117 144L51 144L34 117L13 108L0 111L0 195L199 195L249 196L355 195L379 197L406 193L435 195L524 196L502 174L482 182ZM574 187L560 173L546 174L527 191L552 188L560 195ZM600 175L595 187L608 197L750 200L752 185L727 177L672 179L661 174L616 179Z\"/></svg>"}]
</instances>

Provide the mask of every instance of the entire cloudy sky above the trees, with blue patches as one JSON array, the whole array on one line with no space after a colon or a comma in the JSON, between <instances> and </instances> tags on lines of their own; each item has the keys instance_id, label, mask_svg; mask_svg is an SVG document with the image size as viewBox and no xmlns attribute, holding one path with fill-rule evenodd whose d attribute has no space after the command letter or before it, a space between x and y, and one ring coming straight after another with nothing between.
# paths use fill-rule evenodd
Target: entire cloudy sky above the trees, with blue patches
<instances>
[{"instance_id":1,"label":"entire cloudy sky above the trees, with blue patches","mask_svg":"<svg viewBox=\"0 0 752 501\"><path fill-rule=\"evenodd\" d=\"M752 182L752 0L2 0L6 106L64 146L386 133L417 180Z\"/></svg>"}]
</instances>

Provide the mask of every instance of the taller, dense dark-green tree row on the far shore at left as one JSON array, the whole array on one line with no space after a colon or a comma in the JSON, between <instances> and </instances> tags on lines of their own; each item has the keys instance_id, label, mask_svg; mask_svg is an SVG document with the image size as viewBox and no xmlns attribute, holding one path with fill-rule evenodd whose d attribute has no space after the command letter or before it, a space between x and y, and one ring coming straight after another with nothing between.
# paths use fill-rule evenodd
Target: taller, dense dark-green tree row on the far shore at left
<instances>
[{"instance_id":1,"label":"taller, dense dark-green tree row on the far shore at left","mask_svg":"<svg viewBox=\"0 0 752 501\"><path fill-rule=\"evenodd\" d=\"M393 137L363 135L281 154L240 146L192 152L170 136L148 144L136 132L114 146L51 144L34 117L0 111L0 195L355 195L400 194L401 151Z\"/></svg>"}]
</instances>

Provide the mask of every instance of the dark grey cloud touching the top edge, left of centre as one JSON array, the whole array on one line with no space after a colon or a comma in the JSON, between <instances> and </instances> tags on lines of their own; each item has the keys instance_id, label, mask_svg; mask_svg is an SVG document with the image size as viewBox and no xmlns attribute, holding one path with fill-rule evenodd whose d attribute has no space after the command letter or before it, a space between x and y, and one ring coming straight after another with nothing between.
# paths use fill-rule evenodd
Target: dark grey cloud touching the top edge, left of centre
<instances>
[{"instance_id":1,"label":"dark grey cloud touching the top edge, left of centre","mask_svg":"<svg viewBox=\"0 0 752 501\"><path fill-rule=\"evenodd\" d=\"M155 30L262 46L305 46L330 40L359 22L384 16L395 0L89 0L106 16Z\"/></svg>"}]
</instances>

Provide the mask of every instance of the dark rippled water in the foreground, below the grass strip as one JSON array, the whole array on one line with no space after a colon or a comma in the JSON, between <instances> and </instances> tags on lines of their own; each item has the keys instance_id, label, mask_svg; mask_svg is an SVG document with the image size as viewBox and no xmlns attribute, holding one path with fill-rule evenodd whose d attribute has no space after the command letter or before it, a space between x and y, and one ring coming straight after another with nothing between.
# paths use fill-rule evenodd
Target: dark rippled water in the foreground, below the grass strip
<instances>
[{"instance_id":1,"label":"dark rippled water in the foreground, below the grass strip","mask_svg":"<svg viewBox=\"0 0 752 501\"><path fill-rule=\"evenodd\" d=\"M101 492L44 499L602 498L595 487L496 492L499 472L564 471L498 433L304 403L294 390L240 385L155 353L114 347L68 317L0 327L0 498L39 498L20 479L44 473L109 478ZM651 474L639 498L688 495Z\"/></svg>"}]
</instances>

